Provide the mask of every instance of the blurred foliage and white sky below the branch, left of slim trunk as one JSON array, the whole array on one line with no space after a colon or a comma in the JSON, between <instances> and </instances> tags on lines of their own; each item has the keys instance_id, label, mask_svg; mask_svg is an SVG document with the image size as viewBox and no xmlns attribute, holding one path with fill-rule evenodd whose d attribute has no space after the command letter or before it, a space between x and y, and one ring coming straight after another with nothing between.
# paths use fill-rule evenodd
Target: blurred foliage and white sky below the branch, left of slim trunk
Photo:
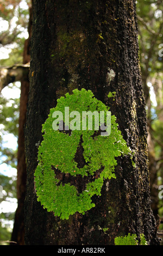
<instances>
[{"instance_id":1,"label":"blurred foliage and white sky below the branch, left of slim trunk","mask_svg":"<svg viewBox=\"0 0 163 256\"><path fill-rule=\"evenodd\" d=\"M2 90L0 98L0 164L1 172L3 174L9 175L8 177L0 173L0 185L3 187L3 190L5 191L3 194L3 198L0 198L0 203L13 202L13 200L14 202L16 202L15 198L17 197L16 177L13 176L13 170L15 172L15 169L17 168L17 149L13 148L14 145L10 142L10 138L15 137L16 141L18 137L20 99L15 98L14 93L12 94L12 96L14 97L13 99L5 98L5 93L3 94L3 92L6 89L10 90L10 88L12 88L13 92L13 90L17 89L18 87L16 86L16 84L5 87ZM11 239L11 227L14 221L15 214L14 212L4 212L3 206L1 211L2 212L0 214L0 245L3 245L3 241Z\"/></svg>"}]
</instances>

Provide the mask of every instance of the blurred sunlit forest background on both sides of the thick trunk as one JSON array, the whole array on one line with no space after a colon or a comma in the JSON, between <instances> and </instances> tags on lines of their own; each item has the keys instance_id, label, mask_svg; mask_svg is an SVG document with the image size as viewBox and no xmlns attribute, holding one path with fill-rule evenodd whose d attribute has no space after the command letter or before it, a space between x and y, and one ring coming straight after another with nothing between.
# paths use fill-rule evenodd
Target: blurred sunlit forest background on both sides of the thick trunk
<instances>
[{"instance_id":1,"label":"blurred sunlit forest background on both sides of the thick trunk","mask_svg":"<svg viewBox=\"0 0 163 256\"><path fill-rule=\"evenodd\" d=\"M137 0L140 67L146 99L152 210L163 229L163 2ZM9 245L17 208L17 139L22 75L29 70L30 0L0 0L0 245ZM27 64L27 65L26 65ZM10 78L7 80L7 72ZM25 75L24 75L25 76ZM15 81L15 82L13 82ZM4 87L4 88L3 88ZM160 216L160 221L158 218ZM160 225L159 225L160 224ZM160 231L161 232L161 231Z\"/></svg>"}]
</instances>

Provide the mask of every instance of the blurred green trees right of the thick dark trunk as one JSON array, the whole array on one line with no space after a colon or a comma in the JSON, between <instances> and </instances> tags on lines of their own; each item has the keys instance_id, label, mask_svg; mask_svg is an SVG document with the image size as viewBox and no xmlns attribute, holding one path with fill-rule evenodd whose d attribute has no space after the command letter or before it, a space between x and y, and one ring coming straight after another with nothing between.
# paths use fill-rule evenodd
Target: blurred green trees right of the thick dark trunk
<instances>
[{"instance_id":1,"label":"blurred green trees right of the thick dark trunk","mask_svg":"<svg viewBox=\"0 0 163 256\"><path fill-rule=\"evenodd\" d=\"M162 216L162 57L159 48L163 33L162 1L137 2L140 65L148 119L148 153L152 210ZM162 217L161 217L162 222ZM161 228L161 227L160 227Z\"/></svg>"}]
</instances>

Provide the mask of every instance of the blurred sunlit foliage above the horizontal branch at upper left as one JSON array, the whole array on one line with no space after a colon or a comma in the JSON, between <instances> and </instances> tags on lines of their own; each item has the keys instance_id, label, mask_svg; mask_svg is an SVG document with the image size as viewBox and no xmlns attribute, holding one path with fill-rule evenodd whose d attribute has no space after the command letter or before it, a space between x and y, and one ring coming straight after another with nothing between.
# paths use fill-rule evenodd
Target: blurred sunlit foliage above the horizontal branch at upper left
<instances>
[{"instance_id":1,"label":"blurred sunlit foliage above the horizontal branch at upper left","mask_svg":"<svg viewBox=\"0 0 163 256\"><path fill-rule=\"evenodd\" d=\"M1 46L10 50L8 59L1 58L1 66L23 62L24 36L28 36L24 33L25 29L27 31L29 22L28 5L30 5L30 0L23 1L23 3L21 0L3 1L3 3L1 1L0 3Z\"/></svg>"}]
</instances>

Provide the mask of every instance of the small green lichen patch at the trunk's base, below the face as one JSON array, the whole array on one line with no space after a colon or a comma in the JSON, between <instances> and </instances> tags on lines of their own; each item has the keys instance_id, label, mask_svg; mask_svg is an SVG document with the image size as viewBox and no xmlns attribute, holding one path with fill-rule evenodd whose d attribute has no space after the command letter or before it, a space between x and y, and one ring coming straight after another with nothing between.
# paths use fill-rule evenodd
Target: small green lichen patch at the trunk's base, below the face
<instances>
[{"instance_id":1,"label":"small green lichen patch at the trunk's base, below the face","mask_svg":"<svg viewBox=\"0 0 163 256\"><path fill-rule=\"evenodd\" d=\"M147 245L145 235L140 235L140 244L137 240L136 234L131 235L130 233L127 236L117 236L115 237L115 245Z\"/></svg>"}]
</instances>

